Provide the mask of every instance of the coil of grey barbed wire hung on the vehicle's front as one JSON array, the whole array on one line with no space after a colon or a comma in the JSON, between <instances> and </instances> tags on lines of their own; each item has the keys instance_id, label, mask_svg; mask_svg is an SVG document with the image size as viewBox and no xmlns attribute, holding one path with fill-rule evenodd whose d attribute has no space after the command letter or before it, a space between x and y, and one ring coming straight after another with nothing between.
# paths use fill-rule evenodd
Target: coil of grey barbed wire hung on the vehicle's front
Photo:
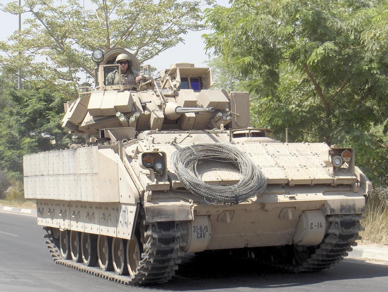
<instances>
[{"instance_id":1,"label":"coil of grey barbed wire hung on the vehicle's front","mask_svg":"<svg viewBox=\"0 0 388 292\"><path fill-rule=\"evenodd\" d=\"M197 172L197 164L206 160L234 164L239 169L240 181L226 186L205 183ZM229 144L202 143L180 148L171 155L171 166L185 188L211 204L238 204L260 195L267 187L259 166Z\"/></svg>"}]
</instances>

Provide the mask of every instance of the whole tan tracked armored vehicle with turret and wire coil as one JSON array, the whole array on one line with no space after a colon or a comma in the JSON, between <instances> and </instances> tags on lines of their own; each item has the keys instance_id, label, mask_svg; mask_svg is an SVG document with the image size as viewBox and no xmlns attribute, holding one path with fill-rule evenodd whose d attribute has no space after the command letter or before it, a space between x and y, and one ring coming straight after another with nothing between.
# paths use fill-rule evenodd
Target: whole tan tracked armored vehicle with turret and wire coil
<instances>
[{"instance_id":1,"label":"whole tan tracked armored vehicle with turret and wire coil","mask_svg":"<svg viewBox=\"0 0 388 292\"><path fill-rule=\"evenodd\" d=\"M120 54L140 84L118 74ZM211 90L209 68L177 63L154 79L121 48L93 59L95 88L63 119L90 143L24 156L25 197L57 263L139 285L169 280L184 253L317 271L351 249L371 192L353 149L250 128L248 93Z\"/></svg>"}]
</instances>

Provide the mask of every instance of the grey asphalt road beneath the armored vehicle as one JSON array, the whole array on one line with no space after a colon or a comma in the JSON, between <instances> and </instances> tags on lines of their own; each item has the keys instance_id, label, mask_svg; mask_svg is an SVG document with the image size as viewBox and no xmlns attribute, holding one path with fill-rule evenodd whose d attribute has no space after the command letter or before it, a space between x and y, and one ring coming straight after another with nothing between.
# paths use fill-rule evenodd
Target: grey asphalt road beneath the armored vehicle
<instances>
[{"instance_id":1,"label":"grey asphalt road beneath the armored vehicle","mask_svg":"<svg viewBox=\"0 0 388 292\"><path fill-rule=\"evenodd\" d=\"M345 259L320 273L284 273L188 258L163 285L124 286L55 264L35 216L0 211L0 291L387 291L388 265Z\"/></svg>"}]
</instances>

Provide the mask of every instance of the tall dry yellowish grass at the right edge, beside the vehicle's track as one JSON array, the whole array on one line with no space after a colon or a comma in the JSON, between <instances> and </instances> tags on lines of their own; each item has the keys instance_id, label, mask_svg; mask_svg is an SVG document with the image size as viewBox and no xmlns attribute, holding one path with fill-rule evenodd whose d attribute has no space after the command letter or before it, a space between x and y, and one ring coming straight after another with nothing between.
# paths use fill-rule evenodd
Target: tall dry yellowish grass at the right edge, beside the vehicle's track
<instances>
[{"instance_id":1,"label":"tall dry yellowish grass at the right edge, beside the vehicle's track","mask_svg":"<svg viewBox=\"0 0 388 292\"><path fill-rule=\"evenodd\" d=\"M362 242L388 244L388 188L373 191L361 223L365 227L365 231L360 233Z\"/></svg>"}]
</instances>

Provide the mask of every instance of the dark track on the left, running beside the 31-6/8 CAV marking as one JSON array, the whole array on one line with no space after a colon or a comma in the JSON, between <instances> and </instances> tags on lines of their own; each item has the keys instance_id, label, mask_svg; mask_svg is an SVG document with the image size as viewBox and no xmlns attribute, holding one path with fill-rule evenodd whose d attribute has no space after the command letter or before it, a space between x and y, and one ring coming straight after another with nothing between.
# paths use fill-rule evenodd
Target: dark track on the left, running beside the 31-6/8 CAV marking
<instances>
[{"instance_id":1,"label":"dark track on the left, running beside the 31-6/8 CAV marking","mask_svg":"<svg viewBox=\"0 0 388 292\"><path fill-rule=\"evenodd\" d=\"M82 263L62 259L55 245L51 228L43 227L43 229L47 232L44 237L47 238L46 244L55 263L125 285L167 282L178 270L178 264L180 264L181 257L184 254L179 222L152 223L144 232L142 260L135 275L130 278L129 276L116 275L113 272L102 271L99 268L88 267Z\"/></svg>"}]
</instances>

